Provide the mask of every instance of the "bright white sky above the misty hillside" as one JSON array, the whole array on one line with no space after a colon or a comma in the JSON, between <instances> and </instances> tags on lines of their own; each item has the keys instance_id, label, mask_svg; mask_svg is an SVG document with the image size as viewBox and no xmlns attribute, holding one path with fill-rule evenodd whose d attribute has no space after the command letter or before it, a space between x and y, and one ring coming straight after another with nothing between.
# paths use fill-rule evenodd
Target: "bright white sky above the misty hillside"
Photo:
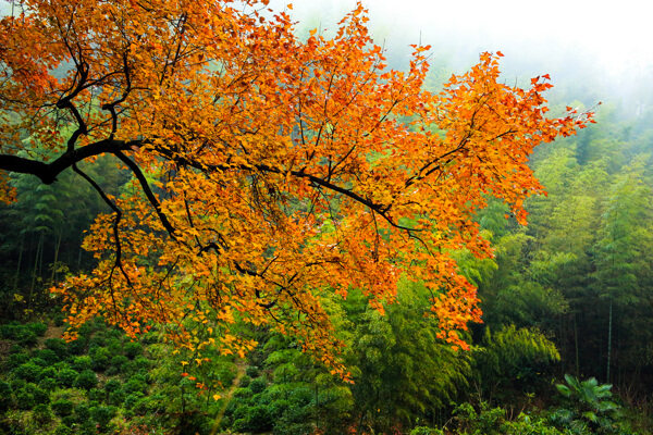
<instances>
[{"instance_id":1,"label":"bright white sky above the misty hillside","mask_svg":"<svg viewBox=\"0 0 653 435\"><path fill-rule=\"evenodd\" d=\"M275 9L289 1L274 0ZM456 45L521 54L551 55L578 50L609 75L653 65L653 2L650 0L365 0L370 25L418 41ZM355 0L296 0L292 15L331 23ZM333 24L331 24L332 26ZM653 71L653 70L652 70ZM653 77L651 77L653 79Z\"/></svg>"}]
</instances>

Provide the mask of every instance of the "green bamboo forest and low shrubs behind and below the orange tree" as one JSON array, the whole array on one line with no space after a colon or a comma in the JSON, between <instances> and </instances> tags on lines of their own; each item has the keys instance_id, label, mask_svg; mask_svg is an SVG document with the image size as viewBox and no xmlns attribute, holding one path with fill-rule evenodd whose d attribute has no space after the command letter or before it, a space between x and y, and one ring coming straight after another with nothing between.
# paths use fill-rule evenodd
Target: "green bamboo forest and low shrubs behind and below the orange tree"
<instances>
[{"instance_id":1,"label":"green bamboo forest and low shrubs behind and below the orange tree","mask_svg":"<svg viewBox=\"0 0 653 435\"><path fill-rule=\"evenodd\" d=\"M528 200L529 226L498 201L480 211L495 258L456 252L483 309L469 351L439 338L432 295L407 279L384 315L357 288L323 296L353 383L296 337L238 319L258 343L244 358L196 359L156 330L132 341L101 319L64 341L48 288L94 265L82 235L106 206L70 171L51 186L12 174L19 200L0 206L0 434L652 434L651 120L650 108L624 120L603 107L596 126L538 149L547 196ZM116 197L131 188L103 158L85 171Z\"/></svg>"}]
</instances>

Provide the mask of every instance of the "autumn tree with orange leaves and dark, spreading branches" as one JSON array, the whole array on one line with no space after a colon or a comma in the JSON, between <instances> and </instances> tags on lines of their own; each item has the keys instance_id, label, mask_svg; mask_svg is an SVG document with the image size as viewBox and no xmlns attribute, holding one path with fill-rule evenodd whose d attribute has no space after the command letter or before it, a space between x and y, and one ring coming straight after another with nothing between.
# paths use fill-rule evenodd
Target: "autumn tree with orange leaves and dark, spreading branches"
<instances>
[{"instance_id":1,"label":"autumn tree with orange leaves and dark, spreading branches","mask_svg":"<svg viewBox=\"0 0 653 435\"><path fill-rule=\"evenodd\" d=\"M358 287L382 311L403 274L430 290L440 338L467 347L480 310L451 252L491 256L475 213L494 196L523 223L542 191L532 148L591 122L545 116L547 75L501 84L501 52L422 90L428 47L387 71L360 4L334 38L299 40L266 0L16 3L0 169L50 184L72 167L112 210L84 243L95 270L54 289L67 322L163 325L198 364L206 346L251 348L230 333L246 321L341 370L321 295ZM26 135L58 157L16 154ZM77 166L102 153L133 174L120 198Z\"/></svg>"}]
</instances>

